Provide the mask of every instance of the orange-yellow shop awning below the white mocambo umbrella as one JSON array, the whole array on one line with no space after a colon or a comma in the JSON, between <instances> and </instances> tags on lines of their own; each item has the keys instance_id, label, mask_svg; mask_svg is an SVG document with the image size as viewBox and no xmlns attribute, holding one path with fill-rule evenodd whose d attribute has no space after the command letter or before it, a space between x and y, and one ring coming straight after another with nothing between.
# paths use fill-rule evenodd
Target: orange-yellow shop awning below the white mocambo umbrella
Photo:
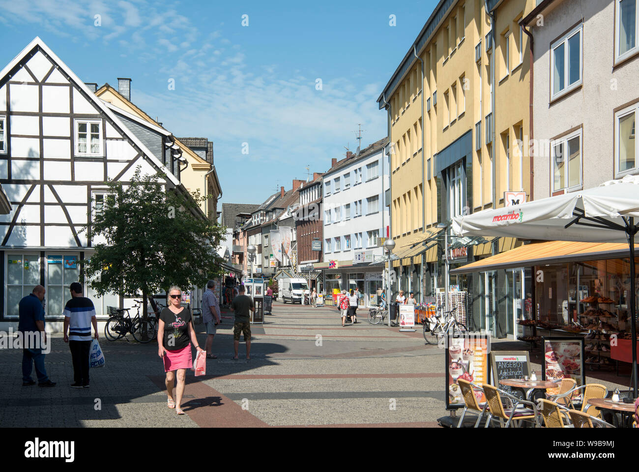
<instances>
[{"instance_id":1,"label":"orange-yellow shop awning below the white mocambo umbrella","mask_svg":"<svg viewBox=\"0 0 639 472\"><path fill-rule=\"evenodd\" d=\"M635 250L639 245L635 244ZM542 264L561 264L580 260L613 259L628 257L628 245L616 242L546 241L526 244L486 259L463 265L451 274L514 269Z\"/></svg>"}]
</instances>

